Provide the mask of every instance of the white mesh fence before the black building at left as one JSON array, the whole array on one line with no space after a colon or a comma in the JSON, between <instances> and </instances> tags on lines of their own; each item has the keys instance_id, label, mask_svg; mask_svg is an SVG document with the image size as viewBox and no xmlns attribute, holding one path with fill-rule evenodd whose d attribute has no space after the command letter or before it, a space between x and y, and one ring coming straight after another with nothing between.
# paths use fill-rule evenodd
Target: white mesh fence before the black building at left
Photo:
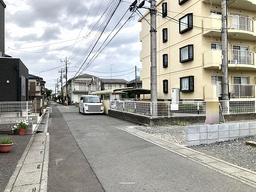
<instances>
[{"instance_id":1,"label":"white mesh fence before the black building at left","mask_svg":"<svg viewBox=\"0 0 256 192\"><path fill-rule=\"evenodd\" d=\"M0 123L26 120L32 114L32 101L0 102Z\"/></svg>"}]
</instances>

